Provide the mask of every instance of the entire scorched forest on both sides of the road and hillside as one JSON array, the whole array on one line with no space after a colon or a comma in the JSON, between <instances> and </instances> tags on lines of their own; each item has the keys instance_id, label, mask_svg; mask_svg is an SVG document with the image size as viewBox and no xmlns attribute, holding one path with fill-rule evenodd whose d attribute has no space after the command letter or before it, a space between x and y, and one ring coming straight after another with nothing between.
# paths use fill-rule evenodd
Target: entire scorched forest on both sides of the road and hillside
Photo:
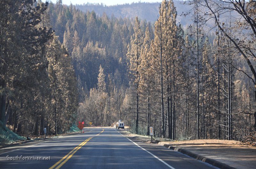
<instances>
[{"instance_id":1,"label":"entire scorched forest on both sides of the road and hillside","mask_svg":"<svg viewBox=\"0 0 256 169\"><path fill-rule=\"evenodd\" d=\"M155 23L2 1L1 123L39 135L121 119L137 134L241 140L256 128L256 3L186 3L191 25L172 0Z\"/></svg>"}]
</instances>

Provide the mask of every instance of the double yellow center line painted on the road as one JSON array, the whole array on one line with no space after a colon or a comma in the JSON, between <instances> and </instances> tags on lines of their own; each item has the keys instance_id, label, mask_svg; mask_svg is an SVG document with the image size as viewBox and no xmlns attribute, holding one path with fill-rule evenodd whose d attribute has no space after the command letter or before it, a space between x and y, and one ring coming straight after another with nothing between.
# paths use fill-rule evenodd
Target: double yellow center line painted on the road
<instances>
[{"instance_id":1,"label":"double yellow center line painted on the road","mask_svg":"<svg viewBox=\"0 0 256 169\"><path fill-rule=\"evenodd\" d=\"M104 129L100 132L102 133L104 131ZM100 135L97 134L96 136ZM89 140L91 140L93 137L90 137L86 140L84 140L84 142L82 142L81 144L79 144L76 148L74 148L73 150L71 150L67 155L65 155L63 158L61 158L57 163L55 163L54 165L52 165L49 169L53 169L54 167L56 167L56 169L59 169L62 165L64 165L75 153L77 150L79 150L81 147L84 146L84 144L86 144ZM64 160L64 161L63 161Z\"/></svg>"}]
</instances>

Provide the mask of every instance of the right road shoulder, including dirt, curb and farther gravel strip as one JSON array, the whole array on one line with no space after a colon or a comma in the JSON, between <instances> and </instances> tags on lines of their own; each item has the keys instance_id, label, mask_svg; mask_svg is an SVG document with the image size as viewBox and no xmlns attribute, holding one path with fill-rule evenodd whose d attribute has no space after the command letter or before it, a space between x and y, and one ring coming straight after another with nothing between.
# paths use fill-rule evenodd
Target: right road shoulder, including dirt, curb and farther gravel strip
<instances>
[{"instance_id":1,"label":"right road shoulder, including dirt, curb and farther gravel strip","mask_svg":"<svg viewBox=\"0 0 256 169\"><path fill-rule=\"evenodd\" d=\"M131 134L125 130L120 132L132 139L140 142L150 143L150 137ZM154 143L154 142L153 142ZM157 144L157 142L155 142ZM234 168L255 168L256 166L256 147L238 145L236 141L228 140L188 140L159 142L166 148L179 151L197 160L206 162L213 166L223 169Z\"/></svg>"}]
</instances>

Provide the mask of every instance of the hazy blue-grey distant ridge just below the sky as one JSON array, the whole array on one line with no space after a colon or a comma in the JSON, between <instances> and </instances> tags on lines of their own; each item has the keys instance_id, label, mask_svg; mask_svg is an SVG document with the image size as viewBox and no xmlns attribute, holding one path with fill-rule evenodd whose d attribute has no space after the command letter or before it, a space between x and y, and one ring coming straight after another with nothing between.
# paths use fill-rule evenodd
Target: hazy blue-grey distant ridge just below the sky
<instances>
[{"instance_id":1,"label":"hazy blue-grey distant ridge just below the sky","mask_svg":"<svg viewBox=\"0 0 256 169\"><path fill-rule=\"evenodd\" d=\"M177 8L177 23L180 22L182 25L190 25L193 23L191 16L184 17L182 12L188 12L191 8L188 4L184 4L184 1L173 1ZM132 4L118 4L113 6L106 6L103 4L76 4L76 8L83 11L94 11L96 15L102 16L106 13L109 18L114 16L115 18L129 18L135 19L136 16L140 20L150 21L155 23L159 16L159 3L132 3Z\"/></svg>"}]
</instances>

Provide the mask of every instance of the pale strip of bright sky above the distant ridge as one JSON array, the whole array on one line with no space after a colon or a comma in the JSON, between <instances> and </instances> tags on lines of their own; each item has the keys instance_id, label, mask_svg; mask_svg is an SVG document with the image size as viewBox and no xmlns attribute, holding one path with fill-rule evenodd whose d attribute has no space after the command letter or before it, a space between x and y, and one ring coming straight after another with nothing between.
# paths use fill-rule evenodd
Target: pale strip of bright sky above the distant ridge
<instances>
[{"instance_id":1,"label":"pale strip of bright sky above the distant ridge","mask_svg":"<svg viewBox=\"0 0 256 169\"><path fill-rule=\"evenodd\" d=\"M50 0L49 0L50 1ZM56 3L56 0L51 0L53 3ZM72 4L87 4L89 3L96 3L96 4L103 4L103 5L116 5L116 4L131 4L132 2L161 2L162 0L62 0L62 4L67 4L69 5L70 2Z\"/></svg>"}]
</instances>

